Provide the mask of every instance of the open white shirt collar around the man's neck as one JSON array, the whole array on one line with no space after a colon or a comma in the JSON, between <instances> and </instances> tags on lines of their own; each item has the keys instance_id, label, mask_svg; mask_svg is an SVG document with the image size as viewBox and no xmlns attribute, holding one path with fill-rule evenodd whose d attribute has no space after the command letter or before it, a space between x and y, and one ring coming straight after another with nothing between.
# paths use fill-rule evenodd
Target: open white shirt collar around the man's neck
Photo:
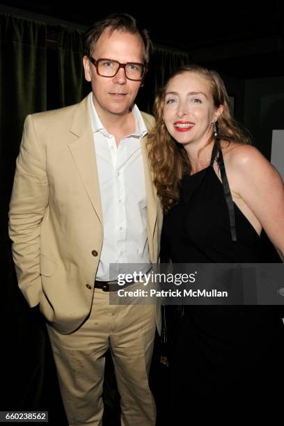
<instances>
[{"instance_id":1,"label":"open white shirt collar around the man's neck","mask_svg":"<svg viewBox=\"0 0 284 426\"><path fill-rule=\"evenodd\" d=\"M90 113L93 133L101 132L102 134L104 134L104 136L110 137L111 135L102 125L100 117L98 116L98 113L95 109L95 105L93 104L93 92L90 92L88 96L90 100ZM143 136L145 136L145 134L148 133L148 130L144 123L142 114L136 104L134 104L132 108L132 113L135 120L135 132L133 134L130 134L129 136L136 136L141 139L143 138Z\"/></svg>"}]
</instances>

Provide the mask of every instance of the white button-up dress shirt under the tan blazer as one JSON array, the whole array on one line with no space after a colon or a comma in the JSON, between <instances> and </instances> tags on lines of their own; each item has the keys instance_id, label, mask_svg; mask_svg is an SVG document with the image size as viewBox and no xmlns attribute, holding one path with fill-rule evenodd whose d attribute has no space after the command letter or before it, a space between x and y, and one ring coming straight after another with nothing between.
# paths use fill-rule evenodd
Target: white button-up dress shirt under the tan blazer
<instances>
[{"instance_id":1,"label":"white button-up dress shirt under the tan blazer","mask_svg":"<svg viewBox=\"0 0 284 426\"><path fill-rule=\"evenodd\" d=\"M96 279L113 281L118 274L147 272L150 267L141 152L141 138L147 134L147 127L134 105L135 132L121 139L117 146L97 115L92 93L89 100L104 225Z\"/></svg>"}]
</instances>

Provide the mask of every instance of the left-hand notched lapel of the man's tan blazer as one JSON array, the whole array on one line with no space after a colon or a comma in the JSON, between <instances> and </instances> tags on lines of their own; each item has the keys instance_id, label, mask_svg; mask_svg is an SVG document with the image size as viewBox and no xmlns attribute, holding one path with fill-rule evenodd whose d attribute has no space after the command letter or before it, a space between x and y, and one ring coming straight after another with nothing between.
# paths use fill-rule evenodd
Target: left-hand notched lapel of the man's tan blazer
<instances>
[{"instance_id":1,"label":"left-hand notched lapel of the man's tan blazer","mask_svg":"<svg viewBox=\"0 0 284 426\"><path fill-rule=\"evenodd\" d=\"M69 143L69 149L76 163L81 180L90 198L98 219L102 223L102 205L100 200L100 185L97 175L97 161L93 143L93 131L90 123L90 104L86 97L74 114L74 120L70 132L77 139Z\"/></svg>"}]
</instances>

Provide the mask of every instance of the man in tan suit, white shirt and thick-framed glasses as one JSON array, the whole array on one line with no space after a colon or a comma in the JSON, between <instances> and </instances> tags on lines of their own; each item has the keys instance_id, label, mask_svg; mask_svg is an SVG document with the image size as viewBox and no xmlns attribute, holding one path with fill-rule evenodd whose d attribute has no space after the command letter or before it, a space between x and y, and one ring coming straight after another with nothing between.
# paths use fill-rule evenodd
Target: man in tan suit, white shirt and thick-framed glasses
<instances>
[{"instance_id":1,"label":"man in tan suit, white shirt and thick-framed glasses","mask_svg":"<svg viewBox=\"0 0 284 426\"><path fill-rule=\"evenodd\" d=\"M102 424L104 353L111 347L122 425L155 425L148 372L154 305L112 305L121 264L157 262L161 207L147 132L134 104L150 40L129 15L110 15L86 36L81 103L26 118L10 201L19 287L40 303L70 425ZM117 267L109 269L109 264Z\"/></svg>"}]
</instances>

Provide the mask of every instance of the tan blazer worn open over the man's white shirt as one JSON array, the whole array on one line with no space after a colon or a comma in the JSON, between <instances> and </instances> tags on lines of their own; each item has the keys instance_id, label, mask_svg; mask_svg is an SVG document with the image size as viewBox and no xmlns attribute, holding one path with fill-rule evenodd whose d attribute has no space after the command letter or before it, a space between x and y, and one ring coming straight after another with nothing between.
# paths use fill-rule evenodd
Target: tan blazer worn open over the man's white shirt
<instances>
[{"instance_id":1,"label":"tan blazer worn open over the man's white shirt","mask_svg":"<svg viewBox=\"0 0 284 426\"><path fill-rule=\"evenodd\" d=\"M148 130L155 124L142 113ZM141 140L150 261L157 262L162 212ZM103 220L88 97L26 118L10 200L9 233L19 288L61 333L90 313ZM157 310L157 326L160 314Z\"/></svg>"}]
</instances>

